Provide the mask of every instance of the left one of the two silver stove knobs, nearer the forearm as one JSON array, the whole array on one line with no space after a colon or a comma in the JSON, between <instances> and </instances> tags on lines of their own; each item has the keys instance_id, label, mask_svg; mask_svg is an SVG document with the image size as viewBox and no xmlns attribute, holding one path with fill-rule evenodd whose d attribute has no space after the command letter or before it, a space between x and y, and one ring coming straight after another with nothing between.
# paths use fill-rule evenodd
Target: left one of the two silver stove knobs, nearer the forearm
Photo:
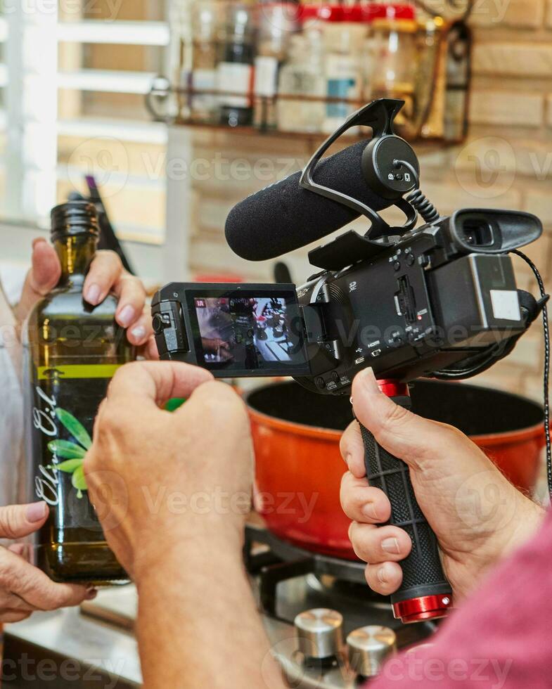
<instances>
[{"instance_id":1,"label":"left one of the two silver stove knobs, nearer the forearm","mask_svg":"<svg viewBox=\"0 0 552 689\"><path fill-rule=\"evenodd\" d=\"M342 647L343 617L335 610L318 607L295 617L295 635L299 650L308 658L330 658Z\"/></svg>"}]
</instances>

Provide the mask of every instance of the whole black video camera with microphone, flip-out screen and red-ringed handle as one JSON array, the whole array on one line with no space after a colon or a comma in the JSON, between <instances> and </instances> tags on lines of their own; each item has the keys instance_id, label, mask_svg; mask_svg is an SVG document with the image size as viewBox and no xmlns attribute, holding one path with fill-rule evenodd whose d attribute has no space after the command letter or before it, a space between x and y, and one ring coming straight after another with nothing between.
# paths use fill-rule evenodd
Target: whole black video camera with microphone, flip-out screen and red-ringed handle
<instances>
[{"instance_id":1,"label":"whole black video camera with microphone, flip-out screen and red-ringed handle","mask_svg":"<svg viewBox=\"0 0 552 689\"><path fill-rule=\"evenodd\" d=\"M354 376L370 367L381 391L409 406L412 380L480 373L511 352L541 311L546 316L544 285L539 301L518 290L508 255L521 255L520 247L541 236L539 219L477 209L440 217L420 191L416 154L394 134L402 105L382 99L361 108L302 174L241 202L226 224L233 250L257 260L306 245L359 215L371 221L368 232L349 230L312 250L309 260L321 270L299 289L167 285L152 307L161 359L224 378L290 375L330 395L349 395ZM347 129L363 125L373 130L370 141L322 160ZM402 226L378 213L390 206L404 212ZM443 617L451 587L409 469L362 426L361 434L368 481L390 498L388 523L412 542L402 586L391 597L394 614L403 622Z\"/></svg>"}]
</instances>

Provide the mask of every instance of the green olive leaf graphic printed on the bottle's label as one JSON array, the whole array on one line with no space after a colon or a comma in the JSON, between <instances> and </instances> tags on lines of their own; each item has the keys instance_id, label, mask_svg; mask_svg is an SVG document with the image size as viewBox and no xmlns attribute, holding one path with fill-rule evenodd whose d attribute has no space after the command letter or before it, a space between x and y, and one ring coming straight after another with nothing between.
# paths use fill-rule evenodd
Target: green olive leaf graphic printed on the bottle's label
<instances>
[{"instance_id":1,"label":"green olive leaf graphic printed on the bottle's label","mask_svg":"<svg viewBox=\"0 0 552 689\"><path fill-rule=\"evenodd\" d=\"M71 474L71 483L77 491L77 498L82 498L82 491L88 490L84 476L84 457L92 446L92 439L86 428L66 409L57 408L56 416L60 423L70 432L77 443L70 440L52 440L48 449L56 457L64 459L60 464L51 464L48 468Z\"/></svg>"}]
</instances>

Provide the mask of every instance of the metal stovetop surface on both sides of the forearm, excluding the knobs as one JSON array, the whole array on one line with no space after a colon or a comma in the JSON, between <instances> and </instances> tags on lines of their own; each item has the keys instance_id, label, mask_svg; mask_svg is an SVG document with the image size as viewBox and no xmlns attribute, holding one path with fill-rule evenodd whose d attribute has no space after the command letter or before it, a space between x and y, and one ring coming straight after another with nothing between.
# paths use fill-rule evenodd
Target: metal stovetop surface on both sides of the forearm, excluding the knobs
<instances>
[{"instance_id":1,"label":"metal stovetop surface on both sides of the forearm, excluding the knobs","mask_svg":"<svg viewBox=\"0 0 552 689\"><path fill-rule=\"evenodd\" d=\"M371 593L366 584L360 583L364 581L364 568L359 562L347 563L305 553L277 541L268 532L263 536L263 532L248 529L245 561L272 652L295 689L354 689L356 686L345 656L338 656L330 665L304 663L297 650L293 627L293 620L300 612L318 607L338 610L344 619L344 639L362 626L390 627L397 634L398 648L425 640L435 631L431 622L406 626L397 622L387 599ZM259 547L259 541L264 546ZM11 676L4 678L4 686L9 689L140 687L142 677L133 631L137 609L134 586L107 588L80 609L35 613L25 622L6 626L4 668ZM48 661L54 662L55 671L44 665ZM70 661L76 664L68 666ZM41 667L48 667L50 674L40 675ZM56 673L53 684L52 675Z\"/></svg>"}]
</instances>

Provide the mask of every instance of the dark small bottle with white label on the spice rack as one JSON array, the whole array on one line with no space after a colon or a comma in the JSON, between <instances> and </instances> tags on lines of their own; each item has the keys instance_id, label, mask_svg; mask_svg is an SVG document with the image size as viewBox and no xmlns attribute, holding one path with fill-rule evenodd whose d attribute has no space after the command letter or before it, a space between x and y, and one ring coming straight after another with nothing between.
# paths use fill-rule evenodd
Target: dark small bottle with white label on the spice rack
<instances>
[{"instance_id":1,"label":"dark small bottle with white label on the spice rack","mask_svg":"<svg viewBox=\"0 0 552 689\"><path fill-rule=\"evenodd\" d=\"M255 25L252 7L230 4L222 31L217 65L219 121L229 127L252 124L252 88L255 60Z\"/></svg>"}]
</instances>

